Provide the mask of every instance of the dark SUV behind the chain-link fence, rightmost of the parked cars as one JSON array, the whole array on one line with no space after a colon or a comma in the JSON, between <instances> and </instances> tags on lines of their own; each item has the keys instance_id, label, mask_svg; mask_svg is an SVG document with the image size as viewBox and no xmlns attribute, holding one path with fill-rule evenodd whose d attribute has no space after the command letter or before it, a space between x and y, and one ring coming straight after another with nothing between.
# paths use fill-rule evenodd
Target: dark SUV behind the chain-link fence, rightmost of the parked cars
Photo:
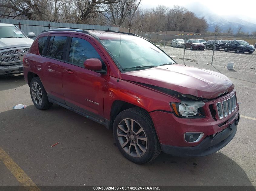
<instances>
[{"instance_id":1,"label":"dark SUV behind the chain-link fence, rightmost of the parked cars","mask_svg":"<svg viewBox=\"0 0 256 191\"><path fill-rule=\"evenodd\" d=\"M229 50L235 51L236 53L248 52L251 54L255 51L255 48L244 40L229 40L225 44L224 51L227 52Z\"/></svg>"}]
</instances>

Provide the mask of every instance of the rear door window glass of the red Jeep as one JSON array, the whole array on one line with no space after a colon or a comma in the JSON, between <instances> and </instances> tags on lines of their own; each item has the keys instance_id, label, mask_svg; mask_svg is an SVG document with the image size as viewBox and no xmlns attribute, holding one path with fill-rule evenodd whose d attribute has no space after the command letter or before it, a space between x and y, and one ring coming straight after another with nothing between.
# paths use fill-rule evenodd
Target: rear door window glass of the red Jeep
<instances>
[{"instance_id":1,"label":"rear door window glass of the red Jeep","mask_svg":"<svg viewBox=\"0 0 256 191\"><path fill-rule=\"evenodd\" d=\"M68 37L51 37L47 46L46 56L63 60L64 48Z\"/></svg>"}]
</instances>

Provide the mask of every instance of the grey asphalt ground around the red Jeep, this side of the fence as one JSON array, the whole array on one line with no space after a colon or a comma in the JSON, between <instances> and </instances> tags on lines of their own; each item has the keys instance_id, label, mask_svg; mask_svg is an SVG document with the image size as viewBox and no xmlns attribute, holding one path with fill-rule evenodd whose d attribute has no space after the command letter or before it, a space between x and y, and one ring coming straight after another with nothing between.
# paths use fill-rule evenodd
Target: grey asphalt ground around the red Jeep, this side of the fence
<instances>
[{"instance_id":1,"label":"grey asphalt ground around the red Jeep, this side of the fence","mask_svg":"<svg viewBox=\"0 0 256 191\"><path fill-rule=\"evenodd\" d=\"M37 110L23 75L1 76L0 148L36 185L256 185L256 85L231 79L244 116L231 143L206 157L161 153L137 165L120 154L104 126L56 104ZM27 108L13 110L16 104ZM0 172L0 185L20 185L3 160Z\"/></svg>"}]
</instances>

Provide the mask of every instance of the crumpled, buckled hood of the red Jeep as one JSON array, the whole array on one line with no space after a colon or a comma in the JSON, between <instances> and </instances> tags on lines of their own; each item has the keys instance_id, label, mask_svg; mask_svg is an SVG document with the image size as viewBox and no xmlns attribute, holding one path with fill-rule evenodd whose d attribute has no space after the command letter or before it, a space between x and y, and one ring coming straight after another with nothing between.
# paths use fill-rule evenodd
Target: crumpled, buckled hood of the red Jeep
<instances>
[{"instance_id":1,"label":"crumpled, buckled hood of the red Jeep","mask_svg":"<svg viewBox=\"0 0 256 191\"><path fill-rule=\"evenodd\" d=\"M234 89L234 84L225 75L178 64L126 72L121 78L207 99Z\"/></svg>"}]
</instances>

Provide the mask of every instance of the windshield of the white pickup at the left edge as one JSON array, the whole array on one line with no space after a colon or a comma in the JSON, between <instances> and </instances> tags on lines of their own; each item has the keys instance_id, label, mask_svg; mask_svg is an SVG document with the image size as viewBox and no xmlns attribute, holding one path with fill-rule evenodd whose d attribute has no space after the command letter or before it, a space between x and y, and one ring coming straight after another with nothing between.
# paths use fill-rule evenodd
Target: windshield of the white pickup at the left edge
<instances>
[{"instance_id":1,"label":"windshield of the white pickup at the left edge","mask_svg":"<svg viewBox=\"0 0 256 191\"><path fill-rule=\"evenodd\" d=\"M25 35L15 26L0 26L0 38L25 38Z\"/></svg>"}]
</instances>

